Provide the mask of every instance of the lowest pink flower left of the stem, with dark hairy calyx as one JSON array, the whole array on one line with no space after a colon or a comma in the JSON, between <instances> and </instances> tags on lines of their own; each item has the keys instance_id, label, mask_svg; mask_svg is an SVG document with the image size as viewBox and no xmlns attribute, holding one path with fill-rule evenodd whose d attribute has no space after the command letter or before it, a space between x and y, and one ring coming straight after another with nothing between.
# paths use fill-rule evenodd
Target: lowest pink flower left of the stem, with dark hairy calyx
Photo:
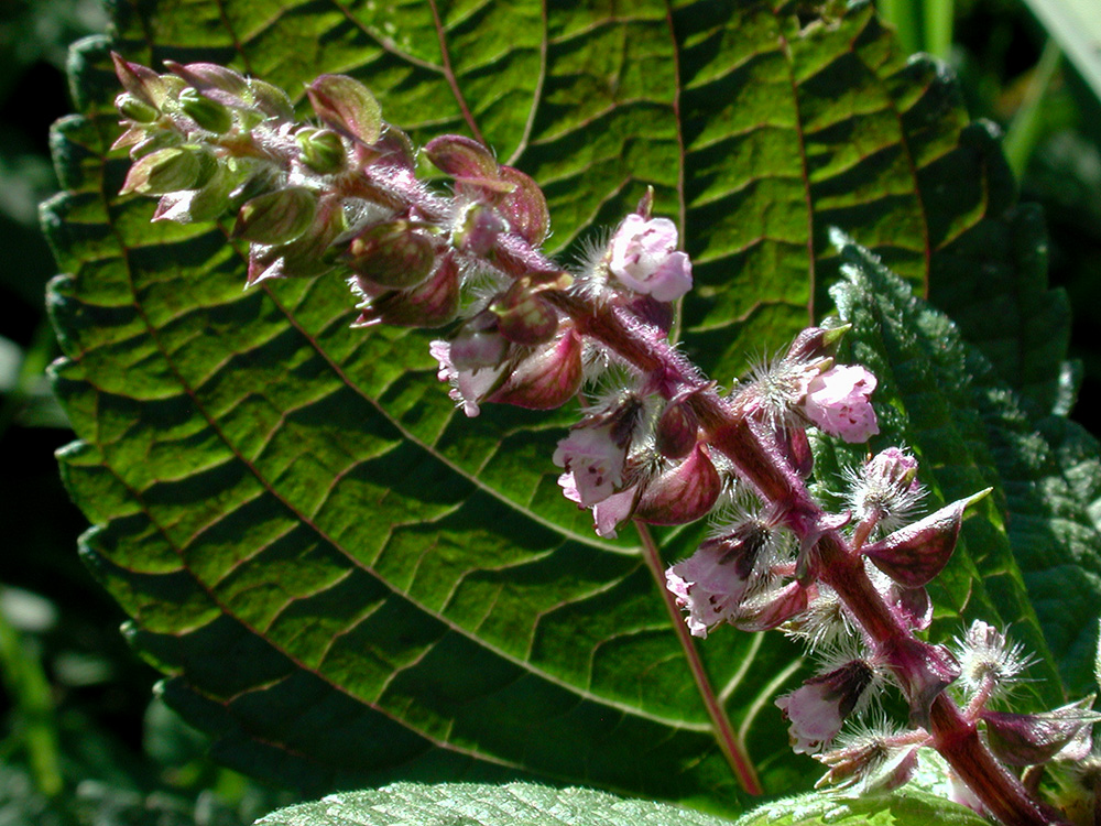
<instances>
[{"instance_id":1,"label":"lowest pink flower left of the stem, with dark hairy calyx","mask_svg":"<svg viewBox=\"0 0 1101 826\"><path fill-rule=\"evenodd\" d=\"M837 737L874 676L871 665L853 660L780 697L776 705L792 721L788 733L795 753L814 754Z\"/></svg>"}]
</instances>

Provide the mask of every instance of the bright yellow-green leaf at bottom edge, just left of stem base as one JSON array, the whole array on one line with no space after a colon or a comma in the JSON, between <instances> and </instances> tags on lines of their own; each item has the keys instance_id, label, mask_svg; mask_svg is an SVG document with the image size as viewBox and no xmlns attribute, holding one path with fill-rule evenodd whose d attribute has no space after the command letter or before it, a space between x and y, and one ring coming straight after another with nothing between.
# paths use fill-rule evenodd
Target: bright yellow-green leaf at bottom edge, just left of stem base
<instances>
[{"instance_id":1,"label":"bright yellow-green leaf at bottom edge, just left of stem base","mask_svg":"<svg viewBox=\"0 0 1101 826\"><path fill-rule=\"evenodd\" d=\"M885 795L835 797L807 794L766 803L735 826L989 826L990 820L958 803L917 789Z\"/></svg>"}]
</instances>

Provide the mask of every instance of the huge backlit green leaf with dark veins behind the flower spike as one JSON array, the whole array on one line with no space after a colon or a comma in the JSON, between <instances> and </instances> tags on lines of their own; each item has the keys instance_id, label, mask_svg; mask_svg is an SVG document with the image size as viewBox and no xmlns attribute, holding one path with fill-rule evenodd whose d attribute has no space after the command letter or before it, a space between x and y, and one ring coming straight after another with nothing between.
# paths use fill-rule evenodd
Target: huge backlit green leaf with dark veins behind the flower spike
<instances>
[{"instance_id":1,"label":"huge backlit green leaf with dark veins behind the flower spike","mask_svg":"<svg viewBox=\"0 0 1101 826\"><path fill-rule=\"evenodd\" d=\"M68 192L44 218L69 273L51 294L81 439L63 469L96 524L86 559L225 760L314 791L537 775L738 808L713 696L766 789L814 771L771 702L795 649L729 632L694 653L662 562L563 500L568 413L465 420L427 337L349 329L338 278L242 292L224 228L150 225L152 204L116 195L107 50L292 93L353 74L418 140L467 131L535 175L565 256L653 184L697 262L686 349L726 380L825 306L829 226L924 289L982 259L1006 199L949 78L866 4L807 8L146 0L75 51ZM700 530L658 532L665 561ZM990 561L1005 586L983 605L1027 624L1013 559L972 556L953 587L983 595Z\"/></svg>"}]
</instances>

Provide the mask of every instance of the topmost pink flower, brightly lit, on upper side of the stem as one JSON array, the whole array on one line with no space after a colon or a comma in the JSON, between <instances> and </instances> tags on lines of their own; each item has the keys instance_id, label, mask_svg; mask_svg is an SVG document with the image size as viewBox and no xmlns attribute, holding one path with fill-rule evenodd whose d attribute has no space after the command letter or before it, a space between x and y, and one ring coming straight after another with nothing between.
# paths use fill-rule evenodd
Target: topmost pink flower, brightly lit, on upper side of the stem
<instances>
[{"instance_id":1,"label":"topmost pink flower, brightly lit, on upper side of the stem","mask_svg":"<svg viewBox=\"0 0 1101 826\"><path fill-rule=\"evenodd\" d=\"M675 301L691 290L691 261L676 247L673 221L632 213L612 236L608 269L635 292Z\"/></svg>"}]
</instances>

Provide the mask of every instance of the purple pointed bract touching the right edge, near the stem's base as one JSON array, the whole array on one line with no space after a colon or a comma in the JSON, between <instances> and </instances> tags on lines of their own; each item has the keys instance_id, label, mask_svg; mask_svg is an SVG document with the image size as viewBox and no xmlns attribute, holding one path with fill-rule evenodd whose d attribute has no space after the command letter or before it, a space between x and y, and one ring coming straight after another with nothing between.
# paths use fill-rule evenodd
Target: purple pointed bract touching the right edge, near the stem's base
<instances>
[{"instance_id":1,"label":"purple pointed bract touching the right edge, near the stem's base","mask_svg":"<svg viewBox=\"0 0 1101 826\"><path fill-rule=\"evenodd\" d=\"M1082 729L1101 720L1091 711L1093 697L1043 714L988 711L980 715L986 724L991 750L1009 765L1046 763L1066 748Z\"/></svg>"}]
</instances>

